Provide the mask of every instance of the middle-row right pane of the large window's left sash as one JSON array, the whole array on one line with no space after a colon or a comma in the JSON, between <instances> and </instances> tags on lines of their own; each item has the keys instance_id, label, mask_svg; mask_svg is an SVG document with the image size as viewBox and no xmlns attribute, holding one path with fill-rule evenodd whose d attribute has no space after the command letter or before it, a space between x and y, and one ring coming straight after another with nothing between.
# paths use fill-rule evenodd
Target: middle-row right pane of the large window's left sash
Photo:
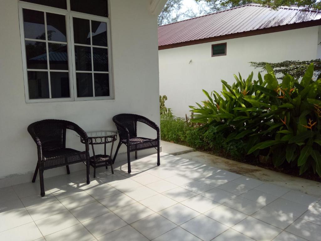
<instances>
[{"instance_id":1,"label":"middle-row right pane of the large window's left sash","mask_svg":"<svg viewBox=\"0 0 321 241\"><path fill-rule=\"evenodd\" d=\"M48 43L50 69L68 70L67 45Z\"/></svg>"}]
</instances>

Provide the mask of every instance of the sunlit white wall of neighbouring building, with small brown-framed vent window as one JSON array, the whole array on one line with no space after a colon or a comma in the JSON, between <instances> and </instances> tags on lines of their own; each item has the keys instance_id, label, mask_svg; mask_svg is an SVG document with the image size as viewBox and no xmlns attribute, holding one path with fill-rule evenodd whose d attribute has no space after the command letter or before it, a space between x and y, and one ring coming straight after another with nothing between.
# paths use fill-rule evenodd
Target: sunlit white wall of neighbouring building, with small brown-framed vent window
<instances>
[{"instance_id":1,"label":"sunlit white wall of neighbouring building, with small brown-framed vent window","mask_svg":"<svg viewBox=\"0 0 321 241\"><path fill-rule=\"evenodd\" d=\"M315 59L321 41L318 29L316 26L159 50L160 94L167 95L166 107L172 108L175 115L190 115L188 106L206 99L202 89L220 93L221 79L232 84L233 74L238 72L247 78L253 71L257 79L258 69L250 67L250 61ZM227 55L211 57L211 45L223 42L227 42Z\"/></svg>"}]
</instances>

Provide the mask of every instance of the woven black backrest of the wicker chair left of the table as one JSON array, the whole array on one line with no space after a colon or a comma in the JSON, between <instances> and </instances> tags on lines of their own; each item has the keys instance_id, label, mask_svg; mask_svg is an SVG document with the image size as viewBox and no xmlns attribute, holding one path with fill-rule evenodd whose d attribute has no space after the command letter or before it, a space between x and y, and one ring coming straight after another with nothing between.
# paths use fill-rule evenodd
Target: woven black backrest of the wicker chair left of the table
<instances>
[{"instance_id":1,"label":"woven black backrest of the wicker chair left of the table","mask_svg":"<svg viewBox=\"0 0 321 241\"><path fill-rule=\"evenodd\" d=\"M33 139L39 138L42 150L65 148L67 124L63 120L37 121L28 126L28 132Z\"/></svg>"}]
</instances>

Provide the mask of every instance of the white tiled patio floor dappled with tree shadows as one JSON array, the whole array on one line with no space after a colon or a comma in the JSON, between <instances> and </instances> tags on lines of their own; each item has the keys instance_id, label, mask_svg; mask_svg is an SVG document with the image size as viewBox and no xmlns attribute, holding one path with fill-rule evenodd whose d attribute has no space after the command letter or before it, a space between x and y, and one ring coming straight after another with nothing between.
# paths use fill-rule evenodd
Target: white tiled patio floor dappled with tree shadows
<instances>
[{"instance_id":1,"label":"white tiled patio floor dappled with tree shadows","mask_svg":"<svg viewBox=\"0 0 321 241\"><path fill-rule=\"evenodd\" d=\"M318 241L320 197L161 153L0 189L4 241ZM72 169L72 166L71 166Z\"/></svg>"}]
</instances>

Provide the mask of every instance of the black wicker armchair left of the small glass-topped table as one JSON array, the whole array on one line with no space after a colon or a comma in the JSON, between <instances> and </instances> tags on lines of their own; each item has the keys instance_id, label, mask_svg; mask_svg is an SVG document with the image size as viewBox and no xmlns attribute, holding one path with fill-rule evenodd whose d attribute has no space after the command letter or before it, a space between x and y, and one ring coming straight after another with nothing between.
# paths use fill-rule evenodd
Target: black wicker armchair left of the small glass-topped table
<instances>
[{"instance_id":1,"label":"black wicker armchair left of the small glass-topped table","mask_svg":"<svg viewBox=\"0 0 321 241\"><path fill-rule=\"evenodd\" d=\"M85 140L85 151L77 151L66 148L66 129L74 130ZM51 168L66 166L67 174L70 174L69 165L79 162L86 162L87 184L89 177L89 144L86 132L78 125L70 121L43 120L30 124L28 132L37 144L38 162L32 182L36 181L39 170L40 195L45 196L43 171Z\"/></svg>"}]
</instances>

